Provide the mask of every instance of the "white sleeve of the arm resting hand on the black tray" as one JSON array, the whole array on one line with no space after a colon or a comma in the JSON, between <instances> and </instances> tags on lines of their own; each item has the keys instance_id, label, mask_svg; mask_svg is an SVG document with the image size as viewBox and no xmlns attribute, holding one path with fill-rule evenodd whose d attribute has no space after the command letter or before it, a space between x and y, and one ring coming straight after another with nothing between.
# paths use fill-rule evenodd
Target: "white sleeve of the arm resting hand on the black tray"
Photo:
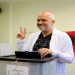
<instances>
[{"instance_id":1,"label":"white sleeve of the arm resting hand on the black tray","mask_svg":"<svg viewBox=\"0 0 75 75\"><path fill-rule=\"evenodd\" d=\"M53 50L53 55L57 58L58 62L72 63L74 61L74 52L71 39L66 35L61 41L62 50Z\"/></svg>"}]
</instances>

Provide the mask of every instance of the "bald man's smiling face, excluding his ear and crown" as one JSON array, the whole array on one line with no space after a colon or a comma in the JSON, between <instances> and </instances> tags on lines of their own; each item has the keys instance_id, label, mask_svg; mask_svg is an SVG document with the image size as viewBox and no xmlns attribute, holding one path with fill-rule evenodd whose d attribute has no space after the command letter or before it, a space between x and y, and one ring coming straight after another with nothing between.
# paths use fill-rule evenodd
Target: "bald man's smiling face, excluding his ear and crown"
<instances>
[{"instance_id":1,"label":"bald man's smiling face, excluding his ear and crown","mask_svg":"<svg viewBox=\"0 0 75 75\"><path fill-rule=\"evenodd\" d=\"M53 22L49 15L39 15L37 18L37 26L43 31L48 31L52 28Z\"/></svg>"}]
</instances>

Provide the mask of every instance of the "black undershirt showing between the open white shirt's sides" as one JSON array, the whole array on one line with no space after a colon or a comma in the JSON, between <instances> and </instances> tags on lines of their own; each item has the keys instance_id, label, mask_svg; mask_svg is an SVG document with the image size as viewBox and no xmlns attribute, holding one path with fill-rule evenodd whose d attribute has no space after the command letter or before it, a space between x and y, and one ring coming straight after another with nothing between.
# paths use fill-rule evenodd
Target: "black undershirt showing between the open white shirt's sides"
<instances>
[{"instance_id":1,"label":"black undershirt showing between the open white shirt's sides","mask_svg":"<svg viewBox=\"0 0 75 75\"><path fill-rule=\"evenodd\" d=\"M38 39L36 40L34 46L33 46L33 51L38 51L40 48L48 48L50 45L50 40L51 40L52 34L47 35L44 37L42 33L40 33Z\"/></svg>"}]
</instances>

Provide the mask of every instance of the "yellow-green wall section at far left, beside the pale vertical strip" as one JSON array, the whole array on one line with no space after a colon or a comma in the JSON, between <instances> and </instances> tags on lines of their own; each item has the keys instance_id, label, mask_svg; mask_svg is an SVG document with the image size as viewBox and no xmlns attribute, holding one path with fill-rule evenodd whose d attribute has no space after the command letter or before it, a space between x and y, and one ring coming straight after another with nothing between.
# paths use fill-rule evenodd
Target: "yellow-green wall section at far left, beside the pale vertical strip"
<instances>
[{"instance_id":1,"label":"yellow-green wall section at far left, beside the pale vertical strip","mask_svg":"<svg viewBox=\"0 0 75 75\"><path fill-rule=\"evenodd\" d=\"M0 3L0 42L9 42L9 3Z\"/></svg>"}]
</instances>

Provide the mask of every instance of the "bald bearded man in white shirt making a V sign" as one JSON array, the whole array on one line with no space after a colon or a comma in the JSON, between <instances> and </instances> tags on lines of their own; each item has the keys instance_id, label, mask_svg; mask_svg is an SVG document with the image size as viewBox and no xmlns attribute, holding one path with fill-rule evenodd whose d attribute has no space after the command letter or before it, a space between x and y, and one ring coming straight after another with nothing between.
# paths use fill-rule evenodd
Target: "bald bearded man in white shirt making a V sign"
<instances>
[{"instance_id":1,"label":"bald bearded man in white shirt making a V sign","mask_svg":"<svg viewBox=\"0 0 75 75\"><path fill-rule=\"evenodd\" d=\"M51 12L41 12L37 16L37 27L41 32L32 33L24 42L26 29L20 28L17 34L17 46L20 50L38 51L41 58L47 54L56 57L56 75L66 75L65 63L74 60L73 47L70 37L54 27L55 18ZM60 71L59 71L60 70Z\"/></svg>"}]
</instances>

